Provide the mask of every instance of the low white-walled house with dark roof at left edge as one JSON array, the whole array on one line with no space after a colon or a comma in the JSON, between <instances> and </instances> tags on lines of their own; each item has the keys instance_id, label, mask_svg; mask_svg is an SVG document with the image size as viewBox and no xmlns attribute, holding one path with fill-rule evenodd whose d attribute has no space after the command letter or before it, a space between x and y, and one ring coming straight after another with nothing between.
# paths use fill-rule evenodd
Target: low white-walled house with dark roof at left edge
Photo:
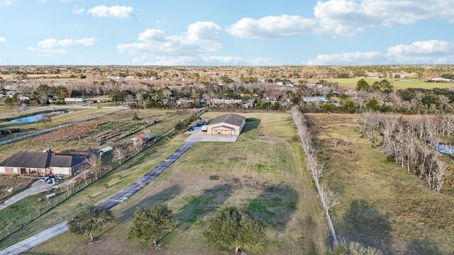
<instances>
[{"instance_id":1,"label":"low white-walled house with dark roof at left edge","mask_svg":"<svg viewBox=\"0 0 454 255\"><path fill-rule=\"evenodd\" d=\"M87 155L74 156L55 152L18 152L0 162L0 174L72 175L82 168Z\"/></svg>"}]
</instances>

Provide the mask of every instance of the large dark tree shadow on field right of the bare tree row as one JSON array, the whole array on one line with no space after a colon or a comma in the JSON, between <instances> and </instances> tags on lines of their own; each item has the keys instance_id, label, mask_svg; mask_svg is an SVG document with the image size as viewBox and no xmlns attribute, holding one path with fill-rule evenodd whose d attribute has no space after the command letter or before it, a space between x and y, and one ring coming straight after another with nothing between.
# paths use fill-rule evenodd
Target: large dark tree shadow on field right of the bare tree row
<instances>
[{"instance_id":1,"label":"large dark tree shadow on field right of the bare tree row","mask_svg":"<svg viewBox=\"0 0 454 255\"><path fill-rule=\"evenodd\" d=\"M343 216L340 227L341 237L348 242L358 242L365 246L381 249L391 254L391 224L386 215L366 200L353 200Z\"/></svg>"}]
</instances>

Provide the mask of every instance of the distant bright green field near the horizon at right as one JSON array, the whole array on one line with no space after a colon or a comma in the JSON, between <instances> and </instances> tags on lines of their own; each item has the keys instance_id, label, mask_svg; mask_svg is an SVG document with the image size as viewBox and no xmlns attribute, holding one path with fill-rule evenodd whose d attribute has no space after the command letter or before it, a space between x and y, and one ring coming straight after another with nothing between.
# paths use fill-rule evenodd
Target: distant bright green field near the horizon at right
<instances>
[{"instance_id":1,"label":"distant bright green field near the horizon at right","mask_svg":"<svg viewBox=\"0 0 454 255\"><path fill-rule=\"evenodd\" d=\"M386 79L386 78L384 78ZM327 81L337 82L339 86L345 88L356 87L356 84L360 79L351 78L351 79L326 79ZM369 84L372 84L374 81L382 81L383 79L365 79ZM430 83L426 80L419 79L387 79L391 82L394 89L407 89L407 88L422 88L422 89L433 89L433 88L450 88L454 87L453 83ZM310 82L317 82L319 79L309 80Z\"/></svg>"}]
</instances>

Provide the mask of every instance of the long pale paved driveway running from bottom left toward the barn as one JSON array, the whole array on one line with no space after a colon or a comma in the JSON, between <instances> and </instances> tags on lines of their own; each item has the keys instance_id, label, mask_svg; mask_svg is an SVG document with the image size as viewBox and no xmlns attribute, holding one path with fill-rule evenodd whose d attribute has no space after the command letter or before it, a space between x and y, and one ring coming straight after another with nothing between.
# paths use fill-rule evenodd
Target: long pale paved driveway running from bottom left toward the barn
<instances>
[{"instance_id":1,"label":"long pale paved driveway running from bottom left toward the barn","mask_svg":"<svg viewBox=\"0 0 454 255\"><path fill-rule=\"evenodd\" d=\"M165 159L163 162L155 166L155 168L148 171L145 176L135 181L130 186L123 189L117 193L114 197L106 200L106 202L102 203L100 206L102 208L111 209L114 206L118 205L119 203L123 202L124 200L131 198L135 193L140 191L143 187L147 186L150 182L156 179L167 167L177 161L179 157L182 156L185 152L187 152L191 147L194 145L194 142L186 142L182 147L179 147L176 152L174 152L170 157ZM38 234L33 235L32 237L28 237L27 239L18 242L17 244L13 244L8 248L1 250L0 255L12 255L12 254L20 254L23 251L33 248L42 242L51 239L52 237L56 237L63 232L68 230L67 222L61 222L57 225L49 227Z\"/></svg>"}]
</instances>

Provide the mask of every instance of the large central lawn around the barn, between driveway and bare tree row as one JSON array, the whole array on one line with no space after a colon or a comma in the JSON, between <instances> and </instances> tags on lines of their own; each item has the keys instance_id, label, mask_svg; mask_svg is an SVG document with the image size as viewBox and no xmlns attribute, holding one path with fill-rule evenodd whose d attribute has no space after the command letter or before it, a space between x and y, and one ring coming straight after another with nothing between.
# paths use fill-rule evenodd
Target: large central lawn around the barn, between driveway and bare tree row
<instances>
[{"instance_id":1,"label":"large central lawn around the barn, between driveway and bare tree row","mask_svg":"<svg viewBox=\"0 0 454 255\"><path fill-rule=\"evenodd\" d=\"M269 242L263 254L324 254L328 229L291 115L245 116L245 130L236 142L197 143L154 183L116 206L116 224L96 233L102 242L88 244L87 238L67 232L30 254L150 254L150 249L126 238L135 209L155 203L167 203L177 220L175 229L161 240L163 249L153 251L156 254L228 254L206 247L202 236L207 221L226 205L247 208L267 223ZM179 135L162 149L184 138ZM84 196L87 193L81 194L82 200ZM62 211L55 215L61 219Z\"/></svg>"}]
</instances>

